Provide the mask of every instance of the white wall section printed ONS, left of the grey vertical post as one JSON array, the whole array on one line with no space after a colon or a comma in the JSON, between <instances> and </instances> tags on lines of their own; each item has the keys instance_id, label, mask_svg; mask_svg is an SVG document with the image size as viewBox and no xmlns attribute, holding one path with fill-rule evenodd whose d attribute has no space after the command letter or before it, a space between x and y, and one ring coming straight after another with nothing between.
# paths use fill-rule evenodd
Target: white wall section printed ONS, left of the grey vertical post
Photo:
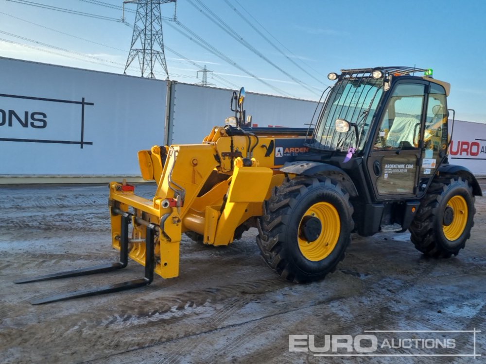
<instances>
[{"instance_id":1,"label":"white wall section printed ONS, left of the grey vertical post","mask_svg":"<svg viewBox=\"0 0 486 364\"><path fill-rule=\"evenodd\" d=\"M163 143L165 81L1 57L0 80L0 175L139 175Z\"/></svg>"}]
</instances>

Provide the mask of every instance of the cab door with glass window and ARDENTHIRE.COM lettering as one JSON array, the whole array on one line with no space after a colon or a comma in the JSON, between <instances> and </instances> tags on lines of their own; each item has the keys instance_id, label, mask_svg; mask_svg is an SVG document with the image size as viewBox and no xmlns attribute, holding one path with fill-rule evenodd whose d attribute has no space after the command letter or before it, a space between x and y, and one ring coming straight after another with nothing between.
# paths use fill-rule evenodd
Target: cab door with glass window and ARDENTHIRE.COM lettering
<instances>
[{"instance_id":1,"label":"cab door with glass window and ARDENTHIRE.COM lettering","mask_svg":"<svg viewBox=\"0 0 486 364\"><path fill-rule=\"evenodd\" d=\"M418 192L427 88L426 81L403 80L390 90L366 162L378 200L413 197Z\"/></svg>"}]
</instances>

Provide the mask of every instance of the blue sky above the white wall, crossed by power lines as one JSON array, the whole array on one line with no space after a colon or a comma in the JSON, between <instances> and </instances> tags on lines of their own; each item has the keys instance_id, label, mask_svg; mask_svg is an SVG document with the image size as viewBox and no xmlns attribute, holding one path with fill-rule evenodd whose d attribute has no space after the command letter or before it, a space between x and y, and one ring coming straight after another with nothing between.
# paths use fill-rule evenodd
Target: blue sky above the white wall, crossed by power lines
<instances>
[{"instance_id":1,"label":"blue sky above the white wall, crossed by power lines","mask_svg":"<svg viewBox=\"0 0 486 364\"><path fill-rule=\"evenodd\" d=\"M130 25L117 21L121 5L122 0L0 0L0 56L123 73L136 5L126 5ZM163 16L174 15L173 4L161 9ZM330 84L329 72L416 65L433 68L435 78L451 83L448 106L456 119L486 122L486 1L177 0L177 19L180 24L163 21L172 80L201 82L197 71L206 65L213 71L208 82L218 87L315 100ZM256 53L217 24L238 33ZM188 30L226 61L191 41L194 35L184 35ZM160 66L156 71L157 78L166 78ZM140 75L136 61L127 73Z\"/></svg>"}]
</instances>

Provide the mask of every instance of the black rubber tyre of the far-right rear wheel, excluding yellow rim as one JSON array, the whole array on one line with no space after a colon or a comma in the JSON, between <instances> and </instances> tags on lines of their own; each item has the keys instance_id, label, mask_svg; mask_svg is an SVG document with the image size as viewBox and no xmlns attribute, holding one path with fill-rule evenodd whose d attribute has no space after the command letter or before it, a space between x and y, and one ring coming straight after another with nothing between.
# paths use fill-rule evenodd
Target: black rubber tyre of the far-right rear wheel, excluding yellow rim
<instances>
[{"instance_id":1,"label":"black rubber tyre of the far-right rear wheel, excluding yellow rim","mask_svg":"<svg viewBox=\"0 0 486 364\"><path fill-rule=\"evenodd\" d=\"M468 190L471 198L470 201L467 201L471 202L470 205L468 203L469 220L463 234L457 239L460 240L459 244L454 248L447 248L441 244L443 239L443 233L441 231L442 223L438 224L436 219L442 216L440 203L446 194L450 189L460 187ZM474 226L474 214L476 213L474 200L472 187L468 180L459 176L435 178L429 186L427 194L420 202L417 215L409 228L411 233L410 240L414 243L415 248L425 256L434 258L450 258L452 255L456 256L459 250L465 247L466 240L471 236L471 228ZM434 226L435 224L438 224L438 226Z\"/></svg>"}]
</instances>

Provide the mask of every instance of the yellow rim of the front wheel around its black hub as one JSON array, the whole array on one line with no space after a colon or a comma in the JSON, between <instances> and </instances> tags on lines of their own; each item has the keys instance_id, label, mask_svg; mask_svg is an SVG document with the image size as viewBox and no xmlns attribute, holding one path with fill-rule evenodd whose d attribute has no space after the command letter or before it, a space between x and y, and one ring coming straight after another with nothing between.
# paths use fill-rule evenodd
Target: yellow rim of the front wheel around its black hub
<instances>
[{"instance_id":1,"label":"yellow rim of the front wheel around its black hub","mask_svg":"<svg viewBox=\"0 0 486 364\"><path fill-rule=\"evenodd\" d=\"M300 233L305 216L318 218L321 222L321 232L317 239L311 242ZM326 258L336 247L340 230L341 220L336 208L329 202L314 203L300 219L297 237L300 252L312 262Z\"/></svg>"}]
</instances>

